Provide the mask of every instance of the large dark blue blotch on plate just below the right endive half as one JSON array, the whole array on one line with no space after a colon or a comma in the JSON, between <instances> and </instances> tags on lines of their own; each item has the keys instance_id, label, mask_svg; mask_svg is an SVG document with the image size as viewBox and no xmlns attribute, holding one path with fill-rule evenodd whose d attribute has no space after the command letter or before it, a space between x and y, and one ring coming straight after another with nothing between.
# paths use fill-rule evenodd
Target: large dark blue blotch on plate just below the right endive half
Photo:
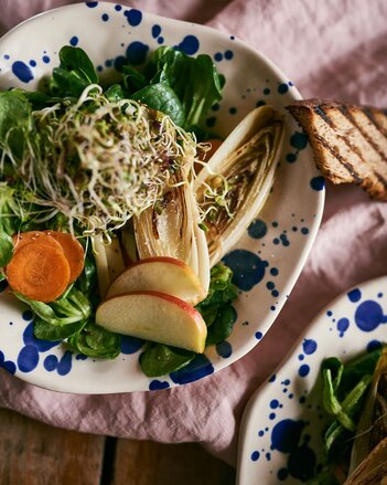
<instances>
[{"instance_id":1,"label":"large dark blue blotch on plate just below the right endive half","mask_svg":"<svg viewBox=\"0 0 387 485\"><path fill-rule=\"evenodd\" d=\"M266 267L269 264L247 250L232 251L224 256L223 261L234 272L234 284L244 292L248 292L264 278Z\"/></svg>"}]
</instances>

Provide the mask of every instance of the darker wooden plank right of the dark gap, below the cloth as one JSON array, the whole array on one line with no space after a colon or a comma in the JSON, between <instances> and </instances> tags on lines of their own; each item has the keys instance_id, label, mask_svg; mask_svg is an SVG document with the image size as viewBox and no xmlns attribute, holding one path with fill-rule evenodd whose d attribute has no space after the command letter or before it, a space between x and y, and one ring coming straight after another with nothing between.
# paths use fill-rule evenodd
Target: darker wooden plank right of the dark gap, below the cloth
<instances>
[{"instance_id":1,"label":"darker wooden plank right of the dark gap, below the cloth","mask_svg":"<svg viewBox=\"0 0 387 485\"><path fill-rule=\"evenodd\" d=\"M196 443L118 440L111 485L232 485L235 470Z\"/></svg>"}]
</instances>

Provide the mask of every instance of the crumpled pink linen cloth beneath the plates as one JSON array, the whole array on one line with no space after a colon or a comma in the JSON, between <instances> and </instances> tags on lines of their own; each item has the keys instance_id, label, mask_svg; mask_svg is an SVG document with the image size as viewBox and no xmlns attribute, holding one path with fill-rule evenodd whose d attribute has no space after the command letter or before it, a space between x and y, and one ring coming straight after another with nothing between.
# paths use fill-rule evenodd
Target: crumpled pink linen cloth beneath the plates
<instances>
[{"instance_id":1,"label":"crumpled pink linen cloth beneath the plates","mask_svg":"<svg viewBox=\"0 0 387 485\"><path fill-rule=\"evenodd\" d=\"M0 0L0 33L66 0ZM133 0L148 12L207 23L271 57L304 97L387 106L385 0ZM52 425L121 437L202 443L236 463L252 391L316 313L341 292L387 273L387 204L355 187L326 188L321 230L289 301L262 341L202 381L159 392L62 394L0 371L0 407ZM313 304L311 304L313 302Z\"/></svg>"}]
</instances>

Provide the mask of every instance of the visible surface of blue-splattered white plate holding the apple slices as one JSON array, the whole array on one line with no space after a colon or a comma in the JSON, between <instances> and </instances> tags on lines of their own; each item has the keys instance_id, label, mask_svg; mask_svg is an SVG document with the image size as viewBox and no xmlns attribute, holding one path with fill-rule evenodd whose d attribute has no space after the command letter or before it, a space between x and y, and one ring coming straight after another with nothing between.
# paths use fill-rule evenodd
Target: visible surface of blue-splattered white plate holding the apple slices
<instances>
[{"instance_id":1,"label":"visible surface of blue-splattered white plate holding the apple slices","mask_svg":"<svg viewBox=\"0 0 387 485\"><path fill-rule=\"evenodd\" d=\"M64 44L83 48L101 77L114 76L123 57L141 63L159 45L209 54L226 76L224 99L207 125L221 135L256 105L282 108L300 94L269 60L233 35L164 19L114 3L83 2L37 15L0 40L0 88L34 89L58 64ZM123 339L114 361L74 355L64 345L37 341L31 314L4 292L0 301L3 366L21 379L68 392L107 393L165 389L208 376L243 357L273 323L293 287L316 234L324 183L305 137L287 115L288 136L272 193L249 231L227 256L241 294L227 341L211 347L189 367L149 379L139 365L139 342ZM24 312L24 313L23 313Z\"/></svg>"}]
</instances>

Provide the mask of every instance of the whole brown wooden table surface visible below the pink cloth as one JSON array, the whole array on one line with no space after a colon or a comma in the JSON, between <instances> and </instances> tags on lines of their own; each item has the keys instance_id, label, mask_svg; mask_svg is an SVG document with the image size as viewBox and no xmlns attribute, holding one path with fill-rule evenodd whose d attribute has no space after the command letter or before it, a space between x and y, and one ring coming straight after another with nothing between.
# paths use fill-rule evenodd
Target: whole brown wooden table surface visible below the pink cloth
<instances>
[{"instance_id":1,"label":"whole brown wooden table surface visible below the pink cloth","mask_svg":"<svg viewBox=\"0 0 387 485\"><path fill-rule=\"evenodd\" d=\"M61 430L0 409L0 485L230 485L235 470L196 443Z\"/></svg>"}]
</instances>

